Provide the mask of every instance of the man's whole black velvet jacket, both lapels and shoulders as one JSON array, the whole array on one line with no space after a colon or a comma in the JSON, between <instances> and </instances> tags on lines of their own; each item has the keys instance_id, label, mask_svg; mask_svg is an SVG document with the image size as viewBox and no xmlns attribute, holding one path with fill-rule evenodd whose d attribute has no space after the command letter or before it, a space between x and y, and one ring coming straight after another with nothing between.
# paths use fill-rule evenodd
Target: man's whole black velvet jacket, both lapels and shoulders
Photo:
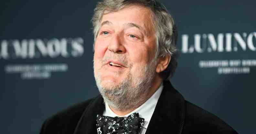
<instances>
[{"instance_id":1,"label":"man's whole black velvet jacket, both lapels and shoulders","mask_svg":"<svg viewBox=\"0 0 256 134\"><path fill-rule=\"evenodd\" d=\"M97 134L96 115L105 109L101 95L62 110L48 118L40 134ZM237 134L228 124L184 100L169 81L149 122L146 134Z\"/></svg>"}]
</instances>

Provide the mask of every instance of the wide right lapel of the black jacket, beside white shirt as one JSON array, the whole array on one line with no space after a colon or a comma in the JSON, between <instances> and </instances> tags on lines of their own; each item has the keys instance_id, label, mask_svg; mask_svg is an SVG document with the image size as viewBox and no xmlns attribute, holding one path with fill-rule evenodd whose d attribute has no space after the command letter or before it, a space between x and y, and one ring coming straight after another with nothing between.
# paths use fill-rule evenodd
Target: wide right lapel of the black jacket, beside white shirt
<instances>
[{"instance_id":1,"label":"wide right lapel of the black jacket, beside white shirt","mask_svg":"<svg viewBox=\"0 0 256 134\"><path fill-rule=\"evenodd\" d=\"M156 104L146 134L180 134L185 118L185 100L169 81Z\"/></svg>"}]
</instances>

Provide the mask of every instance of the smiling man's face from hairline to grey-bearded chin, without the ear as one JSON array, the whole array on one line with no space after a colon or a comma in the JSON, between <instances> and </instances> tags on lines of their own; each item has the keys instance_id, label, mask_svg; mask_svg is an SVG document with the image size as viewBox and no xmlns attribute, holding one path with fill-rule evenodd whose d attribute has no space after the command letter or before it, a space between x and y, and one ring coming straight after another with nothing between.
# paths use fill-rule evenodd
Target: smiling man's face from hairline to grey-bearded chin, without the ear
<instances>
[{"instance_id":1,"label":"smiling man's face from hairline to grey-bearded chin, without the ear","mask_svg":"<svg viewBox=\"0 0 256 134\"><path fill-rule=\"evenodd\" d=\"M155 75L156 39L151 12L142 6L129 6L104 14L95 41L94 75L101 87L112 89L123 81L131 87L145 79L145 67ZM153 68L152 68L153 67ZM154 77L154 76L151 76Z\"/></svg>"}]
</instances>

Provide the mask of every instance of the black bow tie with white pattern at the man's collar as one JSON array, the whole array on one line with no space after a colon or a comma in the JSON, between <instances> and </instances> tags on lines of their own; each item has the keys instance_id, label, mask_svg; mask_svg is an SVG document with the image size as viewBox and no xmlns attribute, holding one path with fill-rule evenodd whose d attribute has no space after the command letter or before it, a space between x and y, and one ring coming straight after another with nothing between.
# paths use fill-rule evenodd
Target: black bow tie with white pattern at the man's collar
<instances>
[{"instance_id":1,"label":"black bow tie with white pattern at the man's collar","mask_svg":"<svg viewBox=\"0 0 256 134\"><path fill-rule=\"evenodd\" d=\"M97 115L98 134L140 134L144 125L144 118L139 113L133 113L128 117L109 117Z\"/></svg>"}]
</instances>

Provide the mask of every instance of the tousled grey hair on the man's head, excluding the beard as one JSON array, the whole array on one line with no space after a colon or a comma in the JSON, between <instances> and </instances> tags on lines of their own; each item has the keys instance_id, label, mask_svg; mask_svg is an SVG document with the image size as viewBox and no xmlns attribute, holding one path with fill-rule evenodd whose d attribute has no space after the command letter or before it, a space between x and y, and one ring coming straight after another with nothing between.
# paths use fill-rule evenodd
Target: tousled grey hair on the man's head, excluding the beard
<instances>
[{"instance_id":1,"label":"tousled grey hair on the man's head, excluding the beard","mask_svg":"<svg viewBox=\"0 0 256 134\"><path fill-rule=\"evenodd\" d=\"M98 2L91 20L93 24L94 43L101 28L101 19L104 11L117 12L130 5L141 5L150 9L152 12L152 22L155 26L156 36L155 59L166 55L171 56L168 67L160 73L164 80L171 78L177 67L177 29L173 17L163 5L155 0L102 0Z\"/></svg>"}]
</instances>

